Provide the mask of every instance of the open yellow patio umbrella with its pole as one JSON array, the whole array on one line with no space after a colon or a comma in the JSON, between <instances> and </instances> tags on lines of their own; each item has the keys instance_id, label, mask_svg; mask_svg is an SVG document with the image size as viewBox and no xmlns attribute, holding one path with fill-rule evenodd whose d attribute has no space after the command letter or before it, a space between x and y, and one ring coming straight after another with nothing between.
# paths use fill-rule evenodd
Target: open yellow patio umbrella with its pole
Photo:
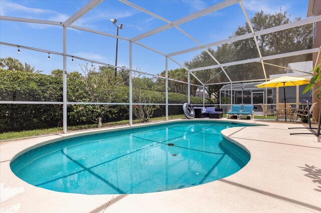
<instances>
[{"instance_id":1,"label":"open yellow patio umbrella with its pole","mask_svg":"<svg viewBox=\"0 0 321 213\"><path fill-rule=\"evenodd\" d=\"M286 96L285 96L285 86L299 86L303 84L308 84L310 82L309 78L304 77L293 77L293 76L282 76L277 77L272 80L263 82L261 84L255 85L259 88L261 87L281 87L283 86L284 91L284 108L286 108ZM285 114L286 121L286 114Z\"/></svg>"}]
</instances>

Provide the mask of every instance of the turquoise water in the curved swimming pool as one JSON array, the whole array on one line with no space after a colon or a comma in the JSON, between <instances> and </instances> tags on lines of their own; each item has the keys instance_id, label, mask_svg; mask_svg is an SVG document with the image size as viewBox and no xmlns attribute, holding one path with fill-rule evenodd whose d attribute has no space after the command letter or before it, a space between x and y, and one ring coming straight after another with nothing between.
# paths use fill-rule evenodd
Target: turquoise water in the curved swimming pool
<instances>
[{"instance_id":1,"label":"turquoise water in the curved swimming pool","mask_svg":"<svg viewBox=\"0 0 321 213\"><path fill-rule=\"evenodd\" d=\"M165 191L199 185L240 170L250 154L217 121L174 122L60 140L14 159L26 182L83 194Z\"/></svg>"}]
</instances>

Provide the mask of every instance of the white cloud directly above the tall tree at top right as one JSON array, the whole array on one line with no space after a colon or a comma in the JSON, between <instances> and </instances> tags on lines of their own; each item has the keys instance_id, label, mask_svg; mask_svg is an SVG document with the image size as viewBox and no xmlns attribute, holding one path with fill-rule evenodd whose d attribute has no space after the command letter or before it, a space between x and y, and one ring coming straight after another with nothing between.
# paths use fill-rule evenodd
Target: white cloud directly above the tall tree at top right
<instances>
[{"instance_id":1,"label":"white cloud directly above the tall tree at top right","mask_svg":"<svg viewBox=\"0 0 321 213\"><path fill-rule=\"evenodd\" d=\"M263 10L264 13L275 13L280 10L280 7L282 7L283 11L287 10L287 5L280 5L278 4L279 1L273 1L273 0L246 0L243 1L244 7L247 10L258 12L260 10Z\"/></svg>"}]
</instances>

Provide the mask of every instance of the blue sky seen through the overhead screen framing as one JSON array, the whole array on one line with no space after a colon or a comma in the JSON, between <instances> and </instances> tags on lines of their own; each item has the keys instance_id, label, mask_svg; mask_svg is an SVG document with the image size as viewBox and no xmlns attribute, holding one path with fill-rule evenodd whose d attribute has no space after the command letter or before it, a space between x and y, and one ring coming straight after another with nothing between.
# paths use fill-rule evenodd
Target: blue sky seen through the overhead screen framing
<instances>
[{"instance_id":1,"label":"blue sky seen through the overhead screen framing","mask_svg":"<svg viewBox=\"0 0 321 213\"><path fill-rule=\"evenodd\" d=\"M170 21L177 20L186 15L216 4L221 0L130 0L132 3L143 7ZM5 16L25 17L53 21L65 21L74 14L88 0L0 0L0 14ZM294 17L306 17L307 0L244 0L248 15L252 17L255 12L263 10L274 13L280 8ZM109 19L116 18L117 24L123 23L120 36L134 37L158 26L166 24L144 12L132 8L117 0L105 0L93 10L85 14L74 25L116 34L116 27ZM223 8L198 19L181 24L180 27L192 35L202 44L225 39L246 22L239 4ZM3 42L33 46L62 52L62 27L44 24L21 23L14 21L0 21L0 40ZM155 35L138 40L164 53L197 46L176 28L159 32ZM86 31L67 30L67 53L98 60L110 64L115 62L115 38L98 35ZM180 63L191 60L200 51L189 52L174 56ZM36 69L50 73L52 69L62 69L62 56L35 52L0 45L0 57L12 56L20 61L27 62ZM80 70L79 63L84 61L75 59L71 63L68 59L67 70ZM118 65L129 66L129 43L119 39ZM169 60L169 68L180 67ZM150 51L144 47L133 44L133 68L138 68L149 73L160 73L165 69L165 56Z\"/></svg>"}]
</instances>

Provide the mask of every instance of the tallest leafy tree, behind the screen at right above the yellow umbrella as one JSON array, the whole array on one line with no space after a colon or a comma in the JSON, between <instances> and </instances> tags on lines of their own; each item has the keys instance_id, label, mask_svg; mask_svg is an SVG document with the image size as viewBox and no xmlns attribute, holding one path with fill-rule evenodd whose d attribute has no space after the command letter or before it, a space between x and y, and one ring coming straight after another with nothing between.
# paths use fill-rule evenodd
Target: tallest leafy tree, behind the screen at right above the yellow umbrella
<instances>
[{"instance_id":1,"label":"tallest leafy tree, behind the screen at right above the yellow umbrella","mask_svg":"<svg viewBox=\"0 0 321 213\"><path fill-rule=\"evenodd\" d=\"M295 21L300 20L299 17L294 18ZM287 12L279 12L274 14L265 14L262 10L257 12L252 18L251 23L254 31L270 28L273 26L291 22ZM251 33L251 29L247 22L243 26L239 26L230 37ZM290 51L302 50L312 47L312 24L289 28L273 33L257 36L259 49L263 56L280 54ZM254 38L242 39L231 43L218 45L216 50L208 49L220 63L245 60L248 58L259 57L259 53L254 41ZM311 60L311 54L297 55L292 57L283 57L278 59L268 60L266 62L287 66L288 63ZM191 61L185 61L188 68L204 67L217 64L214 59L206 52L202 51L196 55ZM284 73L283 68L278 68L271 65L265 65L267 74ZM221 69L209 69L194 72L198 78L206 82ZM233 65L225 68L232 81L242 79L260 79L264 78L263 68L261 63L252 62L245 64ZM268 77L268 76L267 76ZM229 80L223 72L218 74L213 79L213 82L228 82ZM211 83L211 82L210 82ZM221 85L208 85L206 90L209 94L219 94Z\"/></svg>"}]
</instances>

